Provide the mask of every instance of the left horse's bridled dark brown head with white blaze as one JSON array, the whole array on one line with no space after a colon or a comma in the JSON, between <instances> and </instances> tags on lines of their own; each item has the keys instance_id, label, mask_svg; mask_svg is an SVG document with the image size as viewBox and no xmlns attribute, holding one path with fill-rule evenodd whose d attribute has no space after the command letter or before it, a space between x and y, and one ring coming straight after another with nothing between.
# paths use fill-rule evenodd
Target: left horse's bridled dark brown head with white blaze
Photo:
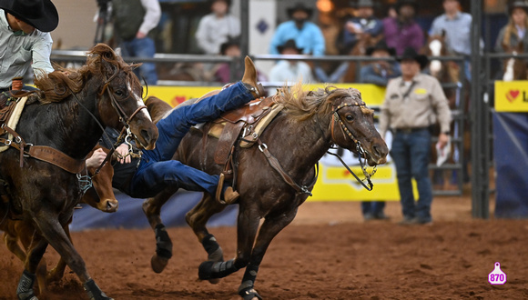
<instances>
[{"instance_id":1,"label":"left horse's bridled dark brown head with white blaze","mask_svg":"<svg viewBox=\"0 0 528 300\"><path fill-rule=\"evenodd\" d=\"M157 127L143 104L143 88L133 72L137 65L127 65L104 44L96 45L89 55L86 66L100 79L97 108L102 122L117 129L129 126L137 146L154 149Z\"/></svg>"}]
</instances>

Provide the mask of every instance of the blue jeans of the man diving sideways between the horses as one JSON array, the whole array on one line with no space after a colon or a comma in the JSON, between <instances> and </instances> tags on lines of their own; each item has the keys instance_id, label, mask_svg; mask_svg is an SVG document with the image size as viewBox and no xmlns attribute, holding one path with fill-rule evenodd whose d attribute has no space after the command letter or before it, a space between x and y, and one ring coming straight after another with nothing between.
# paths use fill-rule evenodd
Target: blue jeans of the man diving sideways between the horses
<instances>
[{"instance_id":1,"label":"blue jeans of the man diving sideways between the horses","mask_svg":"<svg viewBox=\"0 0 528 300\"><path fill-rule=\"evenodd\" d=\"M253 98L248 88L239 82L194 105L180 106L161 119L157 123L159 135L156 148L143 152L128 194L136 198L146 198L157 195L168 186L176 186L188 191L206 191L214 195L218 175L208 175L171 160L172 155L191 126L215 120L224 112L247 104Z\"/></svg>"}]
</instances>

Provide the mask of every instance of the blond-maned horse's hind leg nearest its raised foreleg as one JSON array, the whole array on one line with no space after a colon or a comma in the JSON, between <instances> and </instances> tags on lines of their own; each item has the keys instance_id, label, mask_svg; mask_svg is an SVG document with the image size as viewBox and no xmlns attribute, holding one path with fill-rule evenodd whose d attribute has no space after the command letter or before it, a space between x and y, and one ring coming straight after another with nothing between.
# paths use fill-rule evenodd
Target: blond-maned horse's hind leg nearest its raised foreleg
<instances>
[{"instance_id":1,"label":"blond-maned horse's hind leg nearest its raised foreleg","mask_svg":"<svg viewBox=\"0 0 528 300\"><path fill-rule=\"evenodd\" d=\"M204 249L208 253L209 262L223 262L224 252L220 245L218 245L217 239L214 235L209 234L206 224L208 219L215 214L218 214L226 208L226 205L219 204L213 195L204 193L203 198L198 202L198 205L194 206L185 219L187 224L192 228L195 235L198 237L198 242L203 245ZM211 284L218 284L218 279L209 279Z\"/></svg>"}]
</instances>

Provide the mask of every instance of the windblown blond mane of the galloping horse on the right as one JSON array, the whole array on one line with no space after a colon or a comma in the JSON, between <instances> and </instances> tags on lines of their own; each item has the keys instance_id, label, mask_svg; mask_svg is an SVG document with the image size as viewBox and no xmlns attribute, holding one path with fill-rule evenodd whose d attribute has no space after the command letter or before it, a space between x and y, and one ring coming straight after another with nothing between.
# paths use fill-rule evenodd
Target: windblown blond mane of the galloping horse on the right
<instances>
[{"instance_id":1,"label":"windblown blond mane of the galloping horse on the right","mask_svg":"<svg viewBox=\"0 0 528 300\"><path fill-rule=\"evenodd\" d=\"M284 105L288 115L296 121L305 121L315 114L330 115L334 109L333 100L342 97L353 97L360 100L360 92L353 88L337 88L327 85L324 88L306 92L300 83L288 88L284 86L275 97L275 102ZM371 109L361 106L363 114L372 114Z\"/></svg>"}]
</instances>

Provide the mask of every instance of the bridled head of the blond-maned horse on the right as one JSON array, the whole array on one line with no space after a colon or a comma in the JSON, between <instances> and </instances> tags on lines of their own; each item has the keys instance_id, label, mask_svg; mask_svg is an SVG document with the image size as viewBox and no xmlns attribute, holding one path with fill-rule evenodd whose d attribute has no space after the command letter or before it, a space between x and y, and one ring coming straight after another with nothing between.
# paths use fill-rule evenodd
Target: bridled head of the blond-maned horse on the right
<instances>
[{"instance_id":1,"label":"bridled head of the blond-maned horse on the right","mask_svg":"<svg viewBox=\"0 0 528 300\"><path fill-rule=\"evenodd\" d=\"M326 88L331 105L331 141L368 160L369 165L387 162L389 148L374 126L374 112L355 88Z\"/></svg>"}]
</instances>

